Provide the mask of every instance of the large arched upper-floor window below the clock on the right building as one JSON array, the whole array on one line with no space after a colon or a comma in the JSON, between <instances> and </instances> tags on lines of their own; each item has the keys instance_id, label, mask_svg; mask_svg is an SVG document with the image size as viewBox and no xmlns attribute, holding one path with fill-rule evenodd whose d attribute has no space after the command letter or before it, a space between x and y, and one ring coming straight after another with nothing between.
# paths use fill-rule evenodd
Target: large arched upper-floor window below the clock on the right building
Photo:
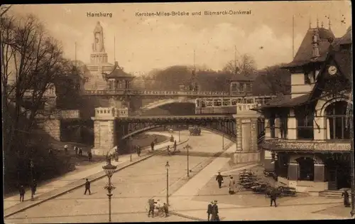
<instances>
[{"instance_id":1,"label":"large arched upper-floor window below the clock on the right building","mask_svg":"<svg viewBox=\"0 0 355 224\"><path fill-rule=\"evenodd\" d=\"M327 139L350 139L349 124L351 124L351 114L353 113L348 102L333 102L325 109L327 116Z\"/></svg>"}]
</instances>

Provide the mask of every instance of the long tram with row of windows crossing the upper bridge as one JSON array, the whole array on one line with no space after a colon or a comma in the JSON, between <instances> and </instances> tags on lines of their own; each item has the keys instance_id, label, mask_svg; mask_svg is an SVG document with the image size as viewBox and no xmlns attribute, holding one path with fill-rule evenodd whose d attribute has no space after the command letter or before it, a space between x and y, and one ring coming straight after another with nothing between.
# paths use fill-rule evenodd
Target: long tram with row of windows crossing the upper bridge
<instances>
[{"instance_id":1,"label":"long tram with row of windows crossing the upper bridge","mask_svg":"<svg viewBox=\"0 0 355 224\"><path fill-rule=\"evenodd\" d=\"M196 114L235 114L238 105L263 105L273 96L213 97L196 99Z\"/></svg>"}]
</instances>

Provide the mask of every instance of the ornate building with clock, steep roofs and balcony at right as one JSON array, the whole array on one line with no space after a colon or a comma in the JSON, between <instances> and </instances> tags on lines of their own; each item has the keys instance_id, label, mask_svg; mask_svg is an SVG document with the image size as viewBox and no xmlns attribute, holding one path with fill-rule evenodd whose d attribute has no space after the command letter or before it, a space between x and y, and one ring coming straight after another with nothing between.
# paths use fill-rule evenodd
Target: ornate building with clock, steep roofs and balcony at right
<instances>
[{"instance_id":1,"label":"ornate building with clock, steep roofs and balcony at right","mask_svg":"<svg viewBox=\"0 0 355 224\"><path fill-rule=\"evenodd\" d=\"M350 187L352 111L351 27L335 38L310 28L292 62L291 93L254 110L266 118L265 169L297 191Z\"/></svg>"}]
</instances>

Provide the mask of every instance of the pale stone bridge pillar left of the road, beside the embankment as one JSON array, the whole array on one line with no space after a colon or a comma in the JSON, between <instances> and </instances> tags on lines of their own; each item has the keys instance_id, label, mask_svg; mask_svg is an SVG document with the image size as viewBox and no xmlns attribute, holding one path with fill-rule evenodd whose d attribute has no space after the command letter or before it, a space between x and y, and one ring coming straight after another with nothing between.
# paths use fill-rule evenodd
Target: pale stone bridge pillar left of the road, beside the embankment
<instances>
[{"instance_id":1,"label":"pale stone bridge pillar left of the road, beside the embankment","mask_svg":"<svg viewBox=\"0 0 355 224\"><path fill-rule=\"evenodd\" d=\"M114 107L95 108L94 148L92 154L106 155L116 145L115 118L118 110Z\"/></svg>"}]
</instances>

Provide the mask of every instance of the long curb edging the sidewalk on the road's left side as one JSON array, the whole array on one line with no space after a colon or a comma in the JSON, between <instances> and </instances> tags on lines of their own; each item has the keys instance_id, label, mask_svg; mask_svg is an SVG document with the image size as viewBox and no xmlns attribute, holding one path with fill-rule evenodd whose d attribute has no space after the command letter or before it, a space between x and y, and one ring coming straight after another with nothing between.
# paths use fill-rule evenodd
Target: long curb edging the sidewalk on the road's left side
<instances>
[{"instance_id":1,"label":"long curb edging the sidewalk on the road's left side","mask_svg":"<svg viewBox=\"0 0 355 224\"><path fill-rule=\"evenodd\" d=\"M184 143L188 142L189 140L190 140L190 138L187 138L186 140L177 143L177 145L184 144ZM121 168L116 169L116 171L114 171L114 173L116 173L116 172L118 172L118 171L121 171L122 169L125 169L125 168L127 168L127 167L129 167L129 166L132 166L133 164L137 164L137 163L140 162L140 161L144 161L144 160L146 160L146 159L149 159L149 158L151 158L152 156L161 154L163 151L166 150L166 149L164 149L164 148L166 148L166 146L163 146L163 147L161 147L160 149L155 149L155 150L157 150L155 153L153 153L153 154L148 154L148 155L146 155L145 157L143 157L143 158L141 158L141 159L138 159L137 161L132 161L132 162L129 161L129 162L128 162L129 164L123 165ZM94 177L93 177L93 178L90 178L90 179L92 180L92 181L90 181L90 182L97 181L97 180L99 180L100 178L104 178L104 177L106 176L106 174L104 173L104 171L100 171L99 173L93 174L92 176L94 176L94 175L95 175L95 176L97 175L97 177L96 177L96 178L94 178ZM88 176L88 177L86 177L86 178L89 178L89 177L90 177L90 176ZM84 179L84 178L83 178L83 179ZM82 181L80 181L80 182L82 182ZM48 198L43 198L41 201L32 203L31 205L25 206L24 208L18 209L18 210L16 210L16 211L13 211L13 212L11 212L11 213L9 213L9 214L6 214L6 215L5 215L6 210L4 210L4 218L9 218L11 215L15 215L16 213L21 213L23 210L27 210L28 208L32 208L32 207L34 207L34 206L38 206L39 204L44 203L45 201L49 201L49 200L51 200L51 199L53 199L53 198L57 198L57 197L59 197L59 196L62 196L63 194L65 194L65 193L67 193L67 192L70 192L70 191L72 191L72 190L75 190L75 189L77 189L77 188L80 188L80 187L82 187L82 186L84 186L84 185L85 185L85 183L80 183L79 185L69 187L69 188L66 189L65 191L62 191L62 192L60 192L60 193L55 193L55 195L53 195L53 196L49 196ZM63 188L65 188L65 186L64 186ZM53 191L55 191L55 190L53 190ZM50 191L49 191L48 193L50 193ZM15 205L15 206L17 206L17 205ZM11 209L11 208L12 208L12 207L10 207L10 208L8 208L8 209Z\"/></svg>"}]
</instances>

